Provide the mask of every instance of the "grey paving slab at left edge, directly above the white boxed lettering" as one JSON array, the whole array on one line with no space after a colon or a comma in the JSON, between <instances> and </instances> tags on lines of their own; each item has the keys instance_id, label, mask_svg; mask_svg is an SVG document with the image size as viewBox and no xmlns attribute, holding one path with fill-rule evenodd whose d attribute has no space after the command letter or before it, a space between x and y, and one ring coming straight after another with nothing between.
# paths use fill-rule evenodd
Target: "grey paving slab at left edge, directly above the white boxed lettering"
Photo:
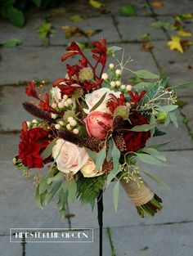
<instances>
[{"instance_id":1,"label":"grey paving slab at left edge, directly above the white boxed lettering","mask_svg":"<svg viewBox=\"0 0 193 256\"><path fill-rule=\"evenodd\" d=\"M0 234L9 234L11 227L69 227L68 220L59 219L55 201L44 209L34 204L33 180L10 162L0 162Z\"/></svg>"}]
</instances>

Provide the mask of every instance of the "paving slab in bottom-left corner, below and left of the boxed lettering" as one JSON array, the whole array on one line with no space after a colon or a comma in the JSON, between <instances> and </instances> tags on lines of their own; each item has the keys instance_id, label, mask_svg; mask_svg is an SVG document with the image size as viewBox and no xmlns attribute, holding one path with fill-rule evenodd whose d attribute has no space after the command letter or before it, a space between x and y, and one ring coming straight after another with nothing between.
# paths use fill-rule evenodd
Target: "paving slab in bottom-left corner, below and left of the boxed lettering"
<instances>
[{"instance_id":1,"label":"paving slab in bottom-left corner, below and left of the boxed lettering","mask_svg":"<svg viewBox=\"0 0 193 256\"><path fill-rule=\"evenodd\" d=\"M22 245L20 243L10 243L10 236L0 236L1 256L21 256Z\"/></svg>"}]
</instances>

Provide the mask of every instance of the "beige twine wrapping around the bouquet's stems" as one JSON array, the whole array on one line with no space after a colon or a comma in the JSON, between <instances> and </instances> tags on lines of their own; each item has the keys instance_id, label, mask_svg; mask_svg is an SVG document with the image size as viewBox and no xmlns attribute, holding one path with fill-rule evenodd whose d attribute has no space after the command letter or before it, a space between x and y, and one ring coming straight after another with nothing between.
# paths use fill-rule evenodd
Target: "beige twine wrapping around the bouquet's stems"
<instances>
[{"instance_id":1,"label":"beige twine wrapping around the bouquet's stems","mask_svg":"<svg viewBox=\"0 0 193 256\"><path fill-rule=\"evenodd\" d=\"M125 180L120 180L121 185L123 186L124 191L128 197L132 200L132 203L136 206L141 206L142 204L148 203L153 199L154 193L150 190L150 186L142 179L139 174L135 175L136 178L141 178L142 183L140 185L132 180L126 182Z\"/></svg>"}]
</instances>

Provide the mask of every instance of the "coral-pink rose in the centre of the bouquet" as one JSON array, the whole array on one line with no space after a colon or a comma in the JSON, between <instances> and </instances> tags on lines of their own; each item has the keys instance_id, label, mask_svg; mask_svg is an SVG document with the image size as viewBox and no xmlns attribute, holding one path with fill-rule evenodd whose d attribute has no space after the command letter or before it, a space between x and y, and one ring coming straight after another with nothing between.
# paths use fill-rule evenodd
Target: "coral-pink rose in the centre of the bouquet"
<instances>
[{"instance_id":1,"label":"coral-pink rose in the centre of the bouquet","mask_svg":"<svg viewBox=\"0 0 193 256\"><path fill-rule=\"evenodd\" d=\"M86 129L90 137L103 139L106 133L113 127L113 119L110 114L92 111L84 119Z\"/></svg>"}]
</instances>

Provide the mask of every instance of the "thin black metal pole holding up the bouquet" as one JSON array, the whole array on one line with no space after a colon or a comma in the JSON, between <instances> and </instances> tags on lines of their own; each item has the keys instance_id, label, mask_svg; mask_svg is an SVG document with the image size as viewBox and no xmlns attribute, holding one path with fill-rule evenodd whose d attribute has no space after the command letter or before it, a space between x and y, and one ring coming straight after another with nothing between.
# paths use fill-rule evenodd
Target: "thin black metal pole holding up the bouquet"
<instances>
[{"instance_id":1,"label":"thin black metal pole holding up the bouquet","mask_svg":"<svg viewBox=\"0 0 193 256\"><path fill-rule=\"evenodd\" d=\"M97 209L98 209L98 225L99 225L99 256L102 256L102 227L103 227L103 191L100 191L100 194L97 198Z\"/></svg>"}]
</instances>

